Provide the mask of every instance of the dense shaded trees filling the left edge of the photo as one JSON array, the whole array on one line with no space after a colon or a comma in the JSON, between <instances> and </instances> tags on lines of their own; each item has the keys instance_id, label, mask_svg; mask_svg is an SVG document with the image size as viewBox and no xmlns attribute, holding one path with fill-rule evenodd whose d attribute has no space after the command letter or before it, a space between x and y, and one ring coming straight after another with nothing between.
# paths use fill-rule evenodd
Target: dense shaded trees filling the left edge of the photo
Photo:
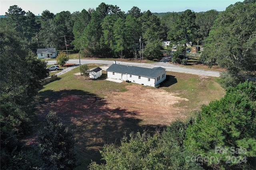
<instances>
[{"instance_id":1,"label":"dense shaded trees filling the left edge of the photo","mask_svg":"<svg viewBox=\"0 0 256 170\"><path fill-rule=\"evenodd\" d=\"M24 147L20 139L31 132L34 96L40 80L48 76L46 62L24 48L24 27L1 23L0 29L1 169L32 166L34 150Z\"/></svg>"}]
</instances>

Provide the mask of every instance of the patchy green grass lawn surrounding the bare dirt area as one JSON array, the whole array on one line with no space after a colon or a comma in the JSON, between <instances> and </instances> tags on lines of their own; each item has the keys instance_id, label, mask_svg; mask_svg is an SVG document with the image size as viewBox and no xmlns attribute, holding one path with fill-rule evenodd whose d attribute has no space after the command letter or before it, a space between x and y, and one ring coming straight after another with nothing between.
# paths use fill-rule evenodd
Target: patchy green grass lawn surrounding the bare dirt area
<instances>
[{"instance_id":1,"label":"patchy green grass lawn surrounding the bare dirt area","mask_svg":"<svg viewBox=\"0 0 256 170\"><path fill-rule=\"evenodd\" d=\"M95 68L100 65L88 64L88 66L89 68ZM114 94L112 92L126 92L126 86L130 86L130 83L116 83L104 80L106 78L106 71L102 71L102 76L99 80L88 81L84 80L82 76L74 75L78 72L80 72L79 68L74 68L70 72L58 76L56 81L45 84L39 91L38 104L44 106L44 101L48 99L50 100L55 96L63 96L64 94L73 96L89 95L94 98L106 98L108 95ZM203 77L178 72L167 72L167 75L168 80L162 87L160 87L160 89L188 99L188 101L182 101L176 104L177 107L184 108L187 111L199 110L202 104L208 104L212 100L218 100L225 94L224 89L215 82L214 77ZM142 86L142 88L157 90L157 88L152 87ZM70 102L73 101L70 100ZM88 101L84 100L84 102ZM98 107L102 106L100 105ZM104 111L108 112L106 110ZM104 111L102 110L102 112ZM96 114L94 116L96 117ZM101 149L102 147L102 141L100 141L100 139L103 138L105 143L119 143L120 138L124 135L125 129L129 129L129 131L137 131L137 129L142 129L143 127L138 120L130 118L123 118L121 121L122 124L120 124L119 119L112 118L99 118L98 120L88 122L88 119L86 118L79 118L78 120L78 118L72 117L72 119L70 118L67 122L69 122L68 125L72 129L76 130L76 138L78 139L75 150L80 157L79 161L82 165L75 168L76 170L87 169L91 160L101 162L100 154L98 152L98 149ZM153 130L154 128L155 127L152 127Z\"/></svg>"}]
</instances>

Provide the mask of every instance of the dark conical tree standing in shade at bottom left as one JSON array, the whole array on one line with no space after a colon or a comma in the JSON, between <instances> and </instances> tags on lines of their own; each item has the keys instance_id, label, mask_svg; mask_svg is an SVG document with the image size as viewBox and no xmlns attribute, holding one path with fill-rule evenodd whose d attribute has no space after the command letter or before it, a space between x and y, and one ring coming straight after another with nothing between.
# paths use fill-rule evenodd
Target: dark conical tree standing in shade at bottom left
<instances>
[{"instance_id":1,"label":"dark conical tree standing in shade at bottom left","mask_svg":"<svg viewBox=\"0 0 256 170\"><path fill-rule=\"evenodd\" d=\"M77 166L74 153L74 131L61 122L52 111L46 116L46 123L38 133L40 156L45 170L72 170Z\"/></svg>"}]
</instances>

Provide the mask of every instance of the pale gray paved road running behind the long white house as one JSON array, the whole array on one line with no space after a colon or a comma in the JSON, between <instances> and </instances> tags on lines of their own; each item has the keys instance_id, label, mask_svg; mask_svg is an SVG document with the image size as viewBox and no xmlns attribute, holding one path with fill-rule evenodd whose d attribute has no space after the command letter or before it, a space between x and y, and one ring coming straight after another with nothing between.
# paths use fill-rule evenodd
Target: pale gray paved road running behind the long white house
<instances>
[{"instance_id":1,"label":"pale gray paved road running behind the long white house","mask_svg":"<svg viewBox=\"0 0 256 170\"><path fill-rule=\"evenodd\" d=\"M55 64L55 63L56 63L56 61L54 61L54 60L48 61L48 64ZM67 63L79 64L79 59L70 59ZM114 63L114 61L81 59L80 63L81 64L104 64L106 66L110 66L111 64ZM165 60L163 60L162 62L152 63L152 64L116 61L116 64L123 64L123 65L130 65L130 66L141 66L141 67L146 67L146 68L153 68L153 67L161 66L161 67L165 68L166 71L184 72L184 73L197 74L197 75L203 75L203 76L214 76L214 77L220 76L220 72L218 72L218 71L206 71L206 70L200 70L200 69L194 69L194 68L181 67L181 66L177 66L174 64L170 64Z\"/></svg>"}]
</instances>

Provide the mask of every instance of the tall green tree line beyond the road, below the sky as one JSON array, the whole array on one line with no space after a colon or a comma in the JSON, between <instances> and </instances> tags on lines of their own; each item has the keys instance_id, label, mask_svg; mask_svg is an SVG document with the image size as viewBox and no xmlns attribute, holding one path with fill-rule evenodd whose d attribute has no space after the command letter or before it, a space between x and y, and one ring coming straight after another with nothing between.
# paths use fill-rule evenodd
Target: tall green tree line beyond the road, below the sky
<instances>
[{"instance_id":1,"label":"tall green tree line beyond the road, below the sky","mask_svg":"<svg viewBox=\"0 0 256 170\"><path fill-rule=\"evenodd\" d=\"M62 50L67 44L69 50L84 57L137 58L143 48L143 57L152 60L162 56L162 40L184 43L207 37L217 15L215 10L197 15L186 10L159 18L136 6L124 13L118 6L101 3L88 11L55 15L45 10L35 16L14 5L1 20L11 23L22 45L32 51L44 47ZM182 41L178 42L180 36Z\"/></svg>"}]
</instances>

